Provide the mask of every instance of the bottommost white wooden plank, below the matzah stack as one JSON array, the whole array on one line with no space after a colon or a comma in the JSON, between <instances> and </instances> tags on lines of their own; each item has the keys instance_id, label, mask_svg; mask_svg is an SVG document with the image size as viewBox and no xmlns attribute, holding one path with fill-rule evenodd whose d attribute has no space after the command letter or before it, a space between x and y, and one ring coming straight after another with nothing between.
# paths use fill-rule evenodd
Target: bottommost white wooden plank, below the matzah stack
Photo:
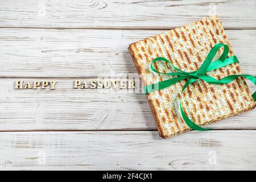
<instances>
[{"instance_id":1,"label":"bottommost white wooden plank, below the matzah stack","mask_svg":"<svg viewBox=\"0 0 256 182\"><path fill-rule=\"evenodd\" d=\"M2 170L238 170L256 167L256 131L161 139L157 131L0 133Z\"/></svg>"}]
</instances>

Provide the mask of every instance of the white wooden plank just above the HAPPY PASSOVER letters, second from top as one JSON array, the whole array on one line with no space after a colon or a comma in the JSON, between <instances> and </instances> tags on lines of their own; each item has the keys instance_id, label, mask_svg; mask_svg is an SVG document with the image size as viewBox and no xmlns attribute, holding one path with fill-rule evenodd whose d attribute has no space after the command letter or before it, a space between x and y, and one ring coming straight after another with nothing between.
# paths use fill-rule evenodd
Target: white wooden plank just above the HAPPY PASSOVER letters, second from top
<instances>
[{"instance_id":1,"label":"white wooden plank just above the HAPPY PASSOVER letters, second from top","mask_svg":"<svg viewBox=\"0 0 256 182\"><path fill-rule=\"evenodd\" d=\"M97 77L137 73L130 43L163 30L0 29L1 77ZM227 30L243 73L255 75L256 30Z\"/></svg>"}]
</instances>

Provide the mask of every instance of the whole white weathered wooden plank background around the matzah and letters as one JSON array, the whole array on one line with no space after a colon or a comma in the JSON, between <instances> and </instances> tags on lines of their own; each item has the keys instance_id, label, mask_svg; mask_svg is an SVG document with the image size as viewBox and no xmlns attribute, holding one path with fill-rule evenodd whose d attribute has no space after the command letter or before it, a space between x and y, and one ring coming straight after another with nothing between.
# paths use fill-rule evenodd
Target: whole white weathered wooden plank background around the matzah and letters
<instances>
[{"instance_id":1,"label":"whole white weathered wooden plank background around the matzah and letters","mask_svg":"<svg viewBox=\"0 0 256 182\"><path fill-rule=\"evenodd\" d=\"M161 139L143 94L72 89L74 78L136 74L130 43L215 12L243 73L256 76L255 9L255 0L0 0L0 169L255 169L254 110ZM14 90L17 78L58 83Z\"/></svg>"}]
</instances>

